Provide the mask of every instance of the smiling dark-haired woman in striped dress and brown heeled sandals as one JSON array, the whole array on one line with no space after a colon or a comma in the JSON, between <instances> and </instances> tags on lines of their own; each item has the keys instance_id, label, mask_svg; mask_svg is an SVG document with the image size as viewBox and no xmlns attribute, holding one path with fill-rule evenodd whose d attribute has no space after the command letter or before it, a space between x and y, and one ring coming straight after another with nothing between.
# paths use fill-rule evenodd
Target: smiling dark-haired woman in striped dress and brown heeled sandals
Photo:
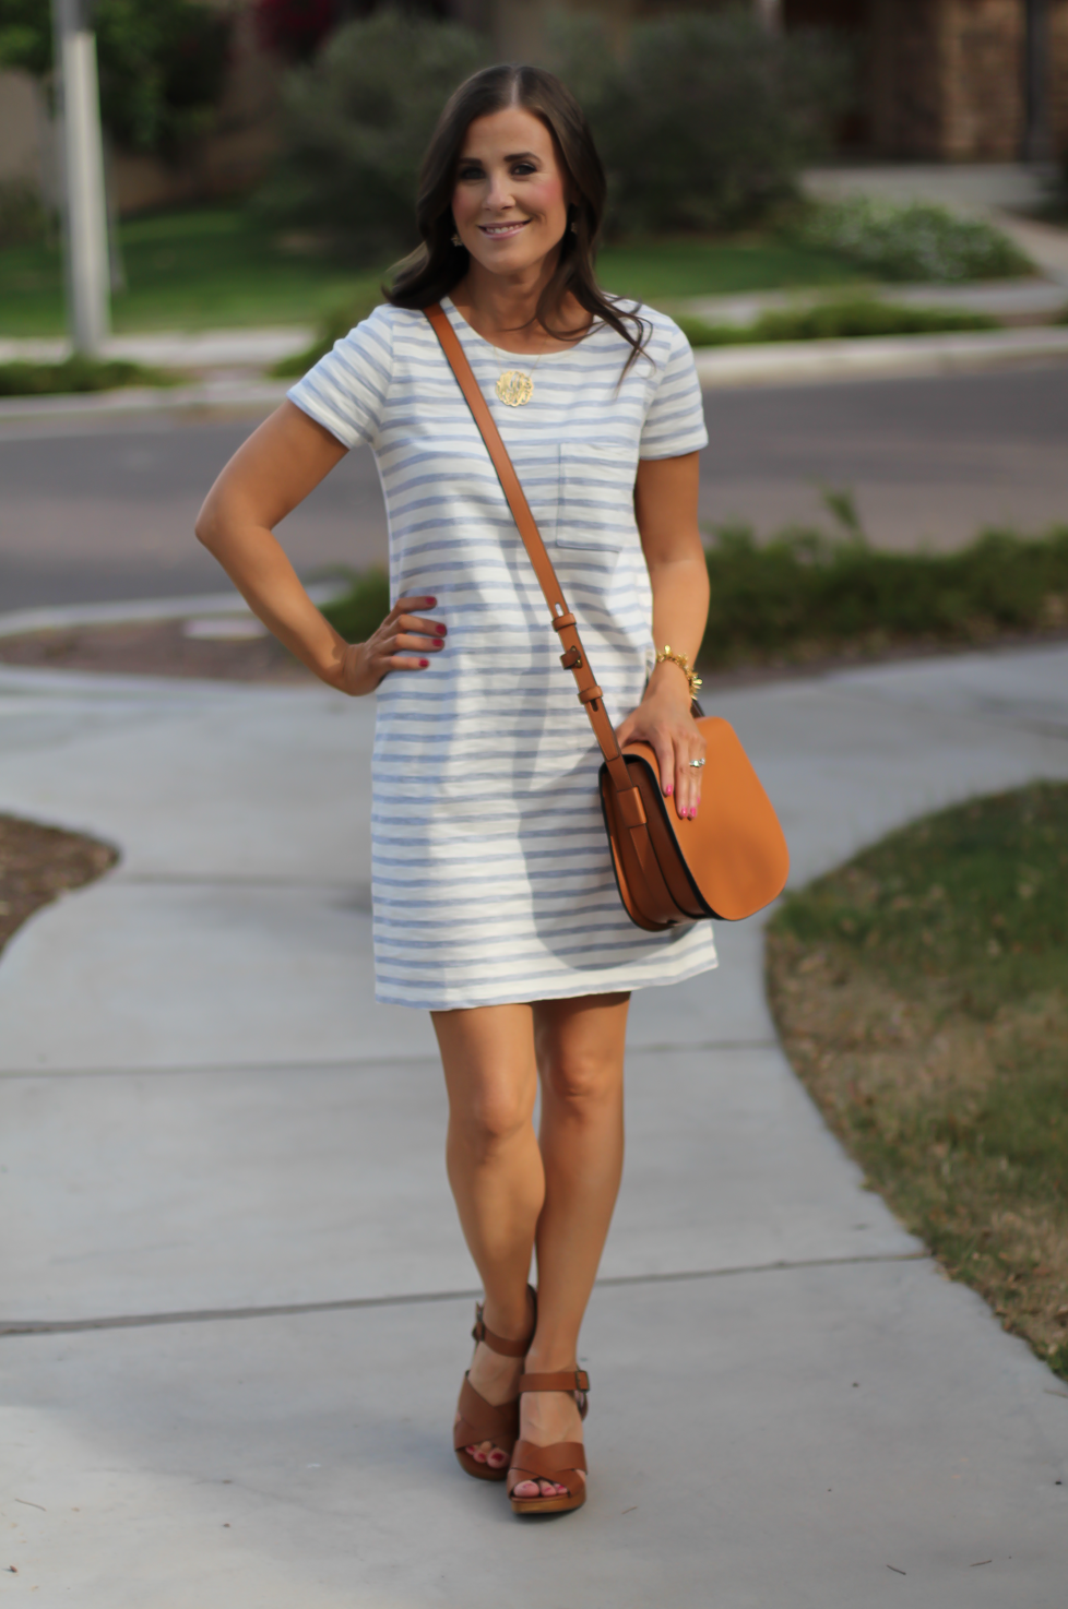
<instances>
[{"instance_id":1,"label":"smiling dark-haired woman in striped dress and brown heeled sandals","mask_svg":"<svg viewBox=\"0 0 1068 1609\"><path fill-rule=\"evenodd\" d=\"M423 166L423 248L388 306L236 452L196 525L322 681L378 693L376 998L431 1010L449 1179L486 1292L457 1456L471 1475L507 1479L526 1514L585 1498L577 1344L622 1168L631 991L693 977L716 953L708 924L645 933L622 911L600 751L421 309L444 304L492 405L606 706L622 716L619 742L650 742L664 793L695 816L703 742L688 658L708 613L696 523L708 438L677 327L597 286L603 203L589 127L557 79L497 66L463 84ZM396 602L373 637L347 644L272 531L357 442L383 478Z\"/></svg>"}]
</instances>

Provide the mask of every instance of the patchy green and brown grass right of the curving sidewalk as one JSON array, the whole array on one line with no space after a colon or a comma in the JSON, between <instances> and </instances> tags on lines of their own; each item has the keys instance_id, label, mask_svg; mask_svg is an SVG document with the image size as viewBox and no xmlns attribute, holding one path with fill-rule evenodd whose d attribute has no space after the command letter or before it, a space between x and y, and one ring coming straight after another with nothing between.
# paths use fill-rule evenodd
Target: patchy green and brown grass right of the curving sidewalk
<instances>
[{"instance_id":1,"label":"patchy green and brown grass right of the curving sidewalk","mask_svg":"<svg viewBox=\"0 0 1068 1609\"><path fill-rule=\"evenodd\" d=\"M787 898L790 1060L898 1216L1068 1379L1068 787L930 816Z\"/></svg>"}]
</instances>

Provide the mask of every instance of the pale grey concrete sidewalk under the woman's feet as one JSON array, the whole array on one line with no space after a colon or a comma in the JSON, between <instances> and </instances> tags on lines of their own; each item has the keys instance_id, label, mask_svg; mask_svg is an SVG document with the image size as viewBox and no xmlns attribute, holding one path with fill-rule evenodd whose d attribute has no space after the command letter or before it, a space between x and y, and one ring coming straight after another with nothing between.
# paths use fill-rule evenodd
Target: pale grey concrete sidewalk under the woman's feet
<instances>
[{"instance_id":1,"label":"pale grey concrete sidewalk under the woman's feet","mask_svg":"<svg viewBox=\"0 0 1068 1609\"><path fill-rule=\"evenodd\" d=\"M717 698L801 882L1068 777L1068 650ZM1068 1390L862 1187L759 924L635 998L590 1501L457 1469L474 1274L373 1004L370 703L0 673L0 809L122 846L0 964L5 1549L40 1609L1063 1609Z\"/></svg>"}]
</instances>

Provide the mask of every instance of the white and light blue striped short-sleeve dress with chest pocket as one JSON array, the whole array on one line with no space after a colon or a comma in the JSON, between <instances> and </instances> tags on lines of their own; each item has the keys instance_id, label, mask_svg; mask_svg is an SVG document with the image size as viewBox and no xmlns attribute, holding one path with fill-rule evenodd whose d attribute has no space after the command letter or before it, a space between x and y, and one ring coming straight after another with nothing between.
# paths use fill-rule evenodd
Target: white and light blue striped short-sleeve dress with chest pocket
<instances>
[{"instance_id":1,"label":"white and light blue striped short-sleeve dress with chest pocket","mask_svg":"<svg viewBox=\"0 0 1068 1609\"><path fill-rule=\"evenodd\" d=\"M626 373L631 348L597 325L545 352L531 401L505 407L494 348L447 298L444 307L618 724L640 702L655 653L634 479L639 459L708 441L693 354L671 319L642 307L651 335ZM388 676L376 695L376 999L449 1010L627 991L714 967L708 922L647 933L622 909L597 792L602 755L426 317L378 307L290 397L346 447L372 447L392 599L436 597L433 613L449 626L429 669Z\"/></svg>"}]
</instances>

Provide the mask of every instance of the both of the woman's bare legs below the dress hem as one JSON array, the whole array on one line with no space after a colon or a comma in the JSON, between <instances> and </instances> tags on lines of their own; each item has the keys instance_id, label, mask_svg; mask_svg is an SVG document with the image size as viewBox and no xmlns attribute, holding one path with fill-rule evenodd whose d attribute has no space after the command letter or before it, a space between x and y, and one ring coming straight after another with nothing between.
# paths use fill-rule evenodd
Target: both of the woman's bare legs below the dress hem
<instances>
[{"instance_id":1,"label":"both of the woman's bare legs below the dress hem","mask_svg":"<svg viewBox=\"0 0 1068 1609\"><path fill-rule=\"evenodd\" d=\"M573 1369L622 1170L627 994L433 1012L449 1091L447 1168L460 1224L486 1290L486 1323L528 1332L526 1281L537 1234L539 1321L529 1372ZM531 1117L542 1081L540 1147ZM523 1363L476 1347L471 1385L515 1397ZM574 1398L523 1398L521 1435L547 1446L582 1438ZM489 1442L470 1448L492 1467ZM518 1496L563 1487L521 1482Z\"/></svg>"}]
</instances>

